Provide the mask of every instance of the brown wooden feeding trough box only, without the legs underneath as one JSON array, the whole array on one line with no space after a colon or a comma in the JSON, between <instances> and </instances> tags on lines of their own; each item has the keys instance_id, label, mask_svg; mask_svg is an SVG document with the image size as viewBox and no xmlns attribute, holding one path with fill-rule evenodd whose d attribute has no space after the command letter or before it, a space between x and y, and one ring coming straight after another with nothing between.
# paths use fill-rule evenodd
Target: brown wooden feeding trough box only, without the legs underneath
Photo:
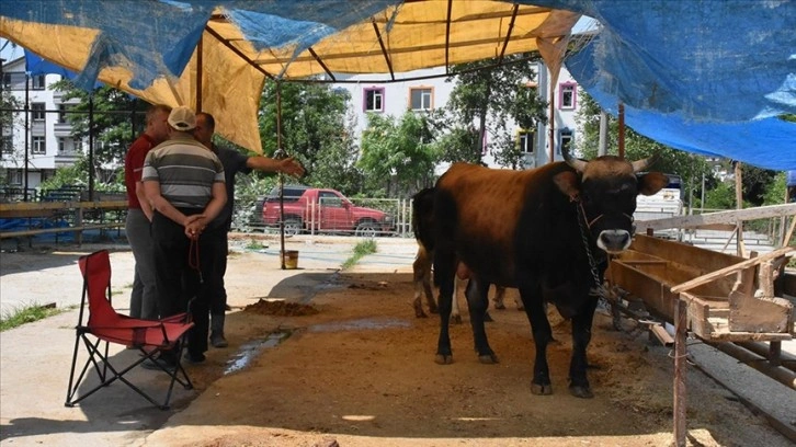
<instances>
[{"instance_id":1,"label":"brown wooden feeding trough box only, without the legs underneath","mask_svg":"<svg viewBox=\"0 0 796 447\"><path fill-rule=\"evenodd\" d=\"M747 260L638 234L612 261L606 279L667 321L676 321L681 299L687 330L707 342L785 341L796 334L794 306L772 296L771 270L760 265L794 250Z\"/></svg>"}]
</instances>

